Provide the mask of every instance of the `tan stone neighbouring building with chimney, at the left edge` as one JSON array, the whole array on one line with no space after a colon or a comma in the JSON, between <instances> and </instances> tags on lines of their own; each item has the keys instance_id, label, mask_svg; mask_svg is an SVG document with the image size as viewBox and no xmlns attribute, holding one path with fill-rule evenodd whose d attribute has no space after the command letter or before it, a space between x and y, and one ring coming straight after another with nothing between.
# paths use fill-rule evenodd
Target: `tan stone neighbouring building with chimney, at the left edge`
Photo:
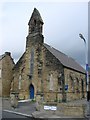
<instances>
[{"instance_id":1,"label":"tan stone neighbouring building with chimney, at the left edge","mask_svg":"<svg viewBox=\"0 0 90 120\"><path fill-rule=\"evenodd\" d=\"M14 61L10 52L5 52L5 54L0 56L0 97L10 96L13 67Z\"/></svg>"}]
</instances>

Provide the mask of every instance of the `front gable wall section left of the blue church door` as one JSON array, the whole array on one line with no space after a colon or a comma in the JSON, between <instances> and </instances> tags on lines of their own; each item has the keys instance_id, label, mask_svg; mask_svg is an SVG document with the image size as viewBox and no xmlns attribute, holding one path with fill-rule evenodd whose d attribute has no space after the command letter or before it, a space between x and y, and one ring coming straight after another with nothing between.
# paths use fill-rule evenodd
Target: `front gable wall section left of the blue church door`
<instances>
[{"instance_id":1,"label":"front gable wall section left of the blue church door","mask_svg":"<svg viewBox=\"0 0 90 120\"><path fill-rule=\"evenodd\" d=\"M11 93L16 92L20 99L27 99L28 96L28 72L26 63L27 57L24 53L13 68L13 80L11 84Z\"/></svg>"}]
</instances>

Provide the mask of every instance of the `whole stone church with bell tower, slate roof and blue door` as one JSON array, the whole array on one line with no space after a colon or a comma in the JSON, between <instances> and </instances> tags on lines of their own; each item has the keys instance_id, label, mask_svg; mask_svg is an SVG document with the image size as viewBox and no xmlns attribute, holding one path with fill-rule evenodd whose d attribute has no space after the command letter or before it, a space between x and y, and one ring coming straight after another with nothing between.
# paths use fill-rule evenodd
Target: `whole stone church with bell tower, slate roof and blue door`
<instances>
[{"instance_id":1,"label":"whole stone church with bell tower, slate roof and blue door","mask_svg":"<svg viewBox=\"0 0 90 120\"><path fill-rule=\"evenodd\" d=\"M26 50L13 67L11 94L20 100L71 101L86 97L85 70L71 57L44 43L43 20L34 8Z\"/></svg>"}]
</instances>

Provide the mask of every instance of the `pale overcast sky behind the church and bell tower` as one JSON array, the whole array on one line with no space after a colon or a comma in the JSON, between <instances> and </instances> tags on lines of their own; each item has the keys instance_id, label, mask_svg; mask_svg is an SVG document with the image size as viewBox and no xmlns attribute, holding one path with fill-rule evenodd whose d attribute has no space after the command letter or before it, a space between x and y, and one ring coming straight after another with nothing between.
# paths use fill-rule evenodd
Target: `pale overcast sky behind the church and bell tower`
<instances>
[{"instance_id":1,"label":"pale overcast sky behind the church and bell tower","mask_svg":"<svg viewBox=\"0 0 90 120\"><path fill-rule=\"evenodd\" d=\"M44 42L85 64L88 40L88 2L5 2L0 5L0 54L10 51L15 62L26 47L28 21L36 7L44 21Z\"/></svg>"}]
</instances>

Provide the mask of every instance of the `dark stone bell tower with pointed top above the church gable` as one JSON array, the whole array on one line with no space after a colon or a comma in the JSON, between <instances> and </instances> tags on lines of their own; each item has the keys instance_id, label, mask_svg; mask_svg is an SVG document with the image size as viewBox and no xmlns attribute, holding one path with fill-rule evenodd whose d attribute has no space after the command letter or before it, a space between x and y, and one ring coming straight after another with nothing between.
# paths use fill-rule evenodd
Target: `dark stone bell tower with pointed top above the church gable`
<instances>
[{"instance_id":1,"label":"dark stone bell tower with pointed top above the church gable","mask_svg":"<svg viewBox=\"0 0 90 120\"><path fill-rule=\"evenodd\" d=\"M39 11L34 8L31 18L28 22L29 30L26 41L26 48L37 43L43 43L43 20Z\"/></svg>"}]
</instances>

